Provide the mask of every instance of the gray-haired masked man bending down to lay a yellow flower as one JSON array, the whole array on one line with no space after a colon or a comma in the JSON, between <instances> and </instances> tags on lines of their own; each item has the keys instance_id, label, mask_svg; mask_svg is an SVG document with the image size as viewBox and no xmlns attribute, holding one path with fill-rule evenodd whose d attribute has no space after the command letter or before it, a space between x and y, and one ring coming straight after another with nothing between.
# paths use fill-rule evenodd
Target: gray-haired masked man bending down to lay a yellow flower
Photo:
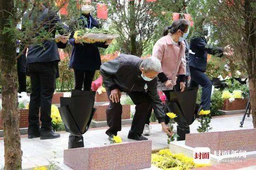
<instances>
[{"instance_id":1,"label":"gray-haired masked man bending down to lay a yellow flower","mask_svg":"<svg viewBox=\"0 0 256 170\"><path fill-rule=\"evenodd\" d=\"M126 54L120 54L118 58L101 65L101 75L110 101L106 110L107 123L110 127L106 134L110 141L121 130L122 105L119 100L121 92L126 92L136 105L128 134L129 139L147 140L142 133L151 104L158 122L161 123L165 132L171 135L169 127L164 122L164 107L156 88L156 76L160 69L161 63L156 58L140 59Z\"/></svg>"}]
</instances>

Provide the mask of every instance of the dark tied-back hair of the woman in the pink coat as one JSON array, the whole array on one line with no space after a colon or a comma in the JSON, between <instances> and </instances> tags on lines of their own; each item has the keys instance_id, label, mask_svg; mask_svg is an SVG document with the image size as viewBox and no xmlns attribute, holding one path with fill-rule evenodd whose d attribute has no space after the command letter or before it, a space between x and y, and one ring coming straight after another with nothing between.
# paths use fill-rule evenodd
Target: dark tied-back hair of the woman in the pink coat
<instances>
[{"instance_id":1,"label":"dark tied-back hair of the woman in the pink coat","mask_svg":"<svg viewBox=\"0 0 256 170\"><path fill-rule=\"evenodd\" d=\"M184 33L185 30L188 28L189 26L189 21L185 20L185 19L177 19L173 22L172 26L166 26L164 29L164 33L163 35L167 35L169 33L174 34L176 33L179 29Z\"/></svg>"}]
</instances>

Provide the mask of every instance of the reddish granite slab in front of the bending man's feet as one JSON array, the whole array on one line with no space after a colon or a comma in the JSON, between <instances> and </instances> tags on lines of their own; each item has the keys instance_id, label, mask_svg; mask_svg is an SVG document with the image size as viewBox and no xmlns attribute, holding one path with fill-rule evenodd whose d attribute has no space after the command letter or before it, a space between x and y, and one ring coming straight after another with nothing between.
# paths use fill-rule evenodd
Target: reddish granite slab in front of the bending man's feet
<instances>
[{"instance_id":1,"label":"reddish granite slab in front of the bending man's feet","mask_svg":"<svg viewBox=\"0 0 256 170\"><path fill-rule=\"evenodd\" d=\"M64 150L73 170L140 170L151 167L151 140Z\"/></svg>"}]
</instances>

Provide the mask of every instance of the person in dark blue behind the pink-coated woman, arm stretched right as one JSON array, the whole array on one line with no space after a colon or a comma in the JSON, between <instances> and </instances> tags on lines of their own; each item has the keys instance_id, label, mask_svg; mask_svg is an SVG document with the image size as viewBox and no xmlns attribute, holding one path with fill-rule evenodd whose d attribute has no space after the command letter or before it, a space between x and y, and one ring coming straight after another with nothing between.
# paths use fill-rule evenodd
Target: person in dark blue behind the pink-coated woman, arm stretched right
<instances>
[{"instance_id":1,"label":"person in dark blue behind the pink-coated woman, arm stretched right","mask_svg":"<svg viewBox=\"0 0 256 170\"><path fill-rule=\"evenodd\" d=\"M203 28L201 36L195 36L190 41L189 68L191 73L191 87L202 86L201 105L202 110L210 110L210 96L212 83L206 76L207 54L223 56L223 49L220 47L208 47L205 36L208 35L208 28ZM226 47L226 55L230 54L229 46Z\"/></svg>"}]
</instances>

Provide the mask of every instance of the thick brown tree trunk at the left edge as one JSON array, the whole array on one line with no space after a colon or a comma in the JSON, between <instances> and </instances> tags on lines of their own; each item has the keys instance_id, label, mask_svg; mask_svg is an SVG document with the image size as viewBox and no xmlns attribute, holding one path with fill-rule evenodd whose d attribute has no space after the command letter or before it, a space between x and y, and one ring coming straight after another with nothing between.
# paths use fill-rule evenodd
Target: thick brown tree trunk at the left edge
<instances>
[{"instance_id":1,"label":"thick brown tree trunk at the left edge","mask_svg":"<svg viewBox=\"0 0 256 170\"><path fill-rule=\"evenodd\" d=\"M13 13L13 0L0 0L0 68L2 86L1 116L4 128L5 170L20 170L22 151L19 136L19 114L17 97L16 42L9 33L3 34Z\"/></svg>"}]
</instances>

